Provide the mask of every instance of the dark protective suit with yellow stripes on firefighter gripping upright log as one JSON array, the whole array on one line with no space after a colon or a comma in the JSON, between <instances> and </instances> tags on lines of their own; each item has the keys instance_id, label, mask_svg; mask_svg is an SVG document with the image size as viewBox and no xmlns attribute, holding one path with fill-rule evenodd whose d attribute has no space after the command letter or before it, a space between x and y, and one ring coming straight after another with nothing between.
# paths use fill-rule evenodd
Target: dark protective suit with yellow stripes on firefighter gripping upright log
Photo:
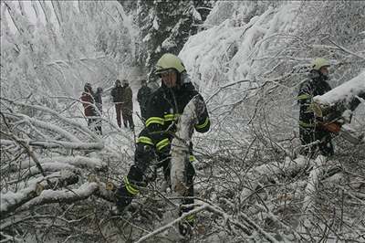
<instances>
[{"instance_id":1,"label":"dark protective suit with yellow stripes on firefighter gripping upright log","mask_svg":"<svg viewBox=\"0 0 365 243\"><path fill-rule=\"evenodd\" d=\"M129 205L133 195L139 193L138 185L146 183L146 174L149 173L149 166L153 161L157 161L158 166L163 166L165 179L169 181L169 152L173 138L172 133L176 130L174 124L178 122L179 115L183 113L185 106L195 96L202 100L195 130L197 132L207 132L210 128L208 111L202 96L194 89L191 82L183 83L178 90L169 89L162 84L162 87L151 94L145 128L141 131L137 140L134 154L135 164L131 165L128 175L124 177L124 182L120 186L117 195L118 206ZM191 153L190 161L192 160L193 154ZM193 165L191 163L187 164L188 196L193 196L194 174ZM192 203L192 198L184 200L184 204Z\"/></svg>"}]
</instances>

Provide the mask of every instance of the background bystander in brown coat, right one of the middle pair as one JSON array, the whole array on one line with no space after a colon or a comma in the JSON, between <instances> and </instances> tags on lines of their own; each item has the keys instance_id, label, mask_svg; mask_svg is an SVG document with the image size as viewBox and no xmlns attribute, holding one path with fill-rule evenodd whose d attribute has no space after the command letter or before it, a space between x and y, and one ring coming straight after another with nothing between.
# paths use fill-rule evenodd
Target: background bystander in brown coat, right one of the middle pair
<instances>
[{"instance_id":1,"label":"background bystander in brown coat, right one of the middle pair","mask_svg":"<svg viewBox=\"0 0 365 243\"><path fill-rule=\"evenodd\" d=\"M123 116L123 124L125 128L130 127L130 130L134 130L134 123L133 123L133 93L130 89L130 84L127 79L123 79L121 82L123 87L123 99L122 99L122 106L121 106L121 115Z\"/></svg>"}]
</instances>

